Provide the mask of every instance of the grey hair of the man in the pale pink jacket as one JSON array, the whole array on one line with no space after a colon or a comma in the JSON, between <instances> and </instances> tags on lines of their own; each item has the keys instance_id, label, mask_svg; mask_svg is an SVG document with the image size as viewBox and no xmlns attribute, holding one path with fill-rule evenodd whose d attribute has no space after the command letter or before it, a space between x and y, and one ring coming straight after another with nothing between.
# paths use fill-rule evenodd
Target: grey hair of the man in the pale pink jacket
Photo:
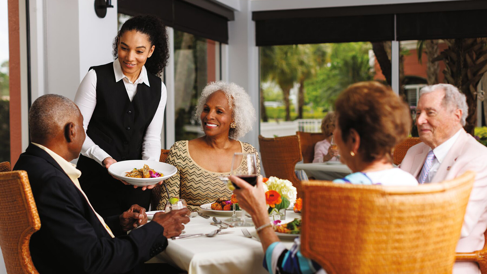
<instances>
[{"instance_id":1,"label":"grey hair of the man in the pale pink jacket","mask_svg":"<svg viewBox=\"0 0 487 274\"><path fill-rule=\"evenodd\" d=\"M453 85L436 84L422 88L421 91L419 91L419 97L425 93L430 93L436 90L445 91L445 97L443 97L442 103L446 108L452 107L462 110L462 118L460 119L460 123L462 126L465 126L468 115L467 97L465 97L465 94L460 92L457 87Z\"/></svg>"}]
</instances>

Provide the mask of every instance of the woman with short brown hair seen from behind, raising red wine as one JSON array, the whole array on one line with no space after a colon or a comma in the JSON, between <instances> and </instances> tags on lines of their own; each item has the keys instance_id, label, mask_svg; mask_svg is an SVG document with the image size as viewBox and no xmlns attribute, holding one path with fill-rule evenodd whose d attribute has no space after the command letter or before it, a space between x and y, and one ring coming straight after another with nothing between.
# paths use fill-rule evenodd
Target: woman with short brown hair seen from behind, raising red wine
<instances>
[{"instance_id":1,"label":"woman with short brown hair seen from behind, raising red wine","mask_svg":"<svg viewBox=\"0 0 487 274\"><path fill-rule=\"evenodd\" d=\"M393 147L411 128L408 106L394 92L377 82L351 85L338 96L334 131L341 161L354 172L335 183L417 185L416 179L392 164ZM257 227L265 252L264 266L269 273L325 273L300 253L300 239L287 250L274 233L265 203L262 179L252 187L240 178L230 180L240 207Z\"/></svg>"}]
</instances>

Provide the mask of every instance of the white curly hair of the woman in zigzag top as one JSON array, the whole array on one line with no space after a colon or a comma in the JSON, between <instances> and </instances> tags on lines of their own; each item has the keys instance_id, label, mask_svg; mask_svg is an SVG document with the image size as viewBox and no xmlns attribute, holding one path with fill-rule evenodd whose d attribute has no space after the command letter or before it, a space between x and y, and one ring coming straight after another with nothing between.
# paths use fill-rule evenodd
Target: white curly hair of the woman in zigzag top
<instances>
[{"instance_id":1,"label":"white curly hair of the woman in zigzag top","mask_svg":"<svg viewBox=\"0 0 487 274\"><path fill-rule=\"evenodd\" d=\"M228 99L228 105L230 105L230 109L233 111L232 118L237 127L230 128L228 137L235 140L244 137L247 132L252 130L252 125L257 120L257 115L254 106L252 106L252 102L250 101L250 96L245 92L244 88L235 83L216 81L207 84L198 99L194 119L201 122L200 116L203 111L203 105L205 105L206 100L208 100L211 93L215 91L225 92L226 99Z\"/></svg>"}]
</instances>

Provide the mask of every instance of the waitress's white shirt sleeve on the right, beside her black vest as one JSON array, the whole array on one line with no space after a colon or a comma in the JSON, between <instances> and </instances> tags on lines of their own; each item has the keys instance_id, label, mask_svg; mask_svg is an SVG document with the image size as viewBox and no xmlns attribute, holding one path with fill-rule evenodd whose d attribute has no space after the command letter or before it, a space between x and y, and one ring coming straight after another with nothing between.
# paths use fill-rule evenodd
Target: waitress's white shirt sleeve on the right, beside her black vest
<instances>
[{"instance_id":1,"label":"waitress's white shirt sleeve on the right, beside her black vest","mask_svg":"<svg viewBox=\"0 0 487 274\"><path fill-rule=\"evenodd\" d=\"M142 160L159 161L159 157L161 156L161 131L167 100L168 92L166 85L161 83L161 100L159 101L154 118L152 118L149 127L147 127L142 142Z\"/></svg>"}]
</instances>

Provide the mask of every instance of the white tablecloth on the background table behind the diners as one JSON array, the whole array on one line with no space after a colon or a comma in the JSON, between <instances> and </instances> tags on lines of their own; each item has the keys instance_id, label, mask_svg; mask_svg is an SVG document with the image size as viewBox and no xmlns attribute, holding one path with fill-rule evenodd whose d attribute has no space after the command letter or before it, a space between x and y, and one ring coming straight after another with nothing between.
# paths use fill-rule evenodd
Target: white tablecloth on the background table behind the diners
<instances>
[{"instance_id":1,"label":"white tablecloth on the background table behind the diners","mask_svg":"<svg viewBox=\"0 0 487 274\"><path fill-rule=\"evenodd\" d=\"M296 164L295 170L304 170L308 177L316 180L333 181L352 173L346 164L307 163Z\"/></svg>"}]
</instances>

